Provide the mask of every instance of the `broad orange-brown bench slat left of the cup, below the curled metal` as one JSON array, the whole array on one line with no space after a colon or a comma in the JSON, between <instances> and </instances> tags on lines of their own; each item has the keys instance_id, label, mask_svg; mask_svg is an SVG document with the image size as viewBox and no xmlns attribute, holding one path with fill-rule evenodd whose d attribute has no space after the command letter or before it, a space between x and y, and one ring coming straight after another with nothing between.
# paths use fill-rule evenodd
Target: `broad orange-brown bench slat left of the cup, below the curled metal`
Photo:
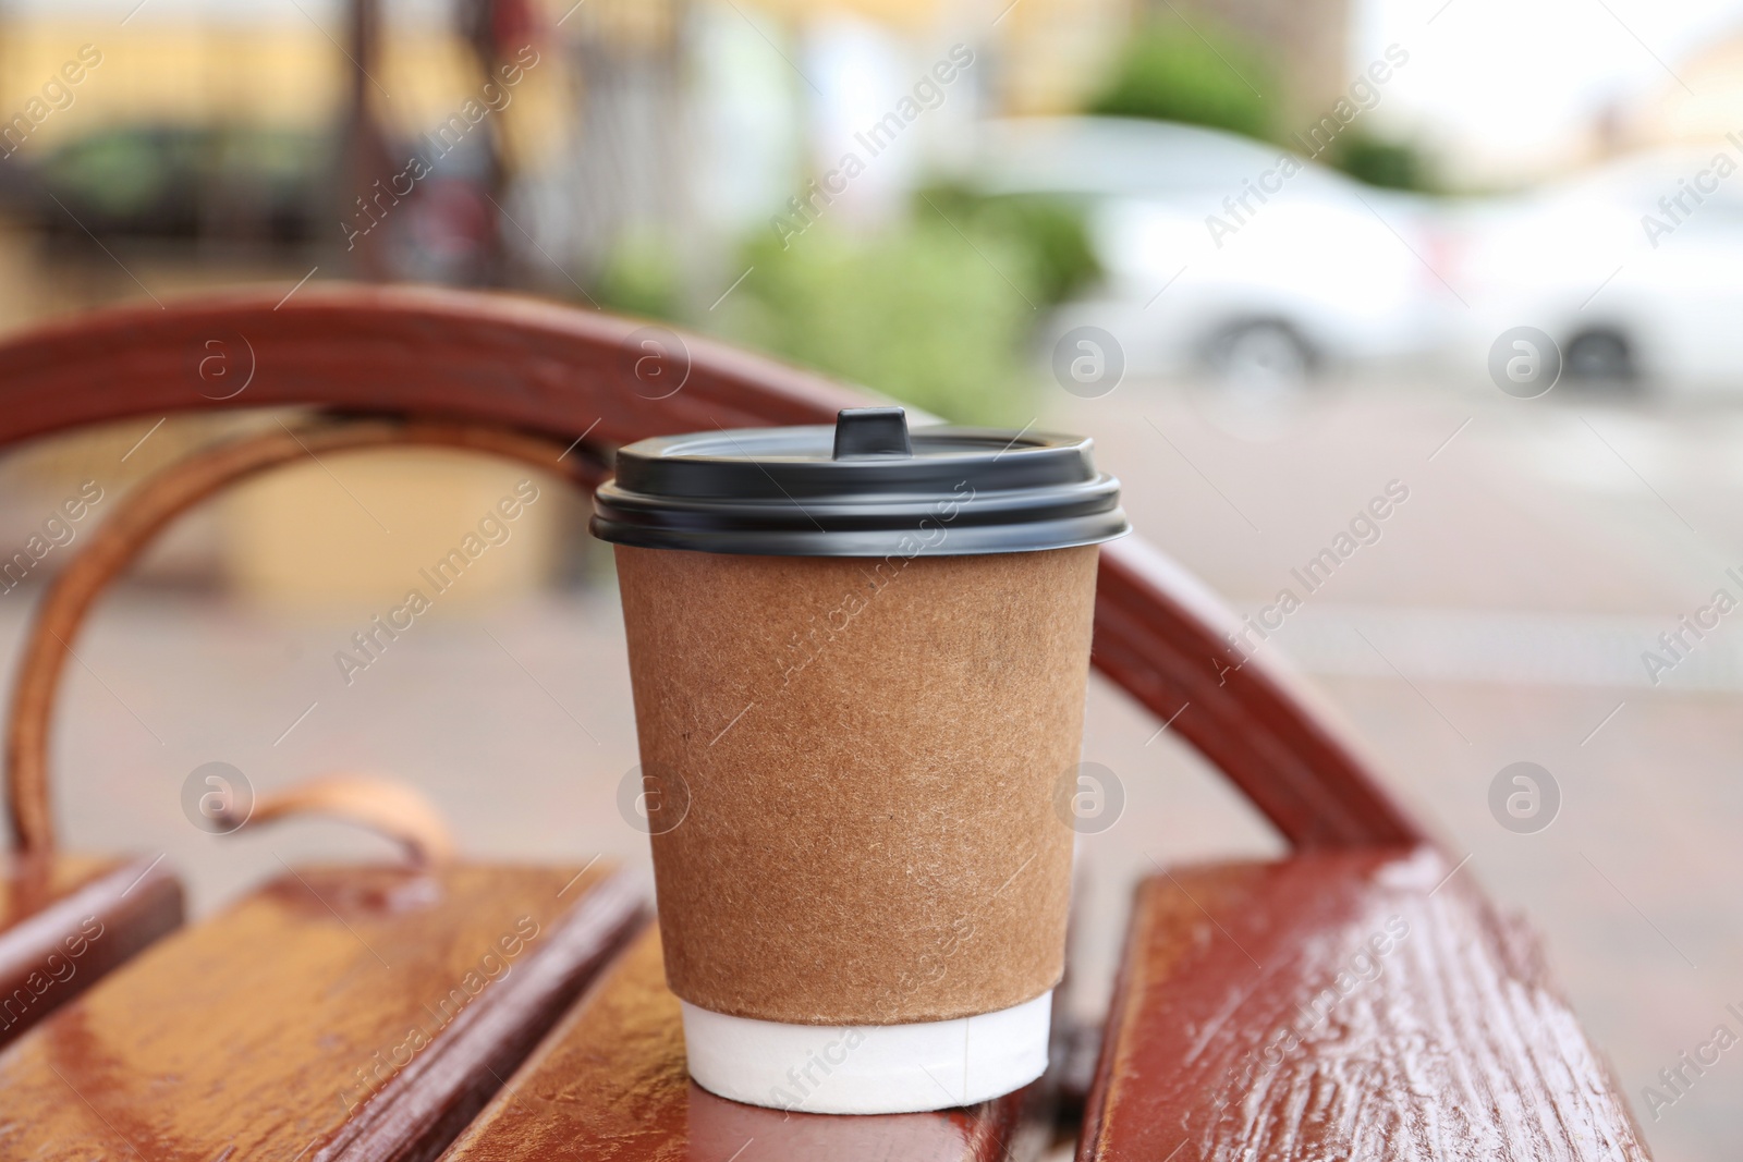
<instances>
[{"instance_id":1,"label":"broad orange-brown bench slat left of the cup, below the curled metal","mask_svg":"<svg viewBox=\"0 0 1743 1162\"><path fill-rule=\"evenodd\" d=\"M640 916L601 866L288 871L0 1054L0 1157L434 1157Z\"/></svg>"}]
</instances>

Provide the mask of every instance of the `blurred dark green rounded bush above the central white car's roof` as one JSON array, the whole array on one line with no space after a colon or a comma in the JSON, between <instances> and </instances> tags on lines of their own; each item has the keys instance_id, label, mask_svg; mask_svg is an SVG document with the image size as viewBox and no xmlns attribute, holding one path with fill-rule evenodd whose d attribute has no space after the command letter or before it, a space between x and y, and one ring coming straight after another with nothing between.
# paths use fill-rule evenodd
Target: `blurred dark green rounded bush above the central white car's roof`
<instances>
[{"instance_id":1,"label":"blurred dark green rounded bush above the central white car's roof","mask_svg":"<svg viewBox=\"0 0 1743 1162\"><path fill-rule=\"evenodd\" d=\"M1103 117L1149 117L1269 139L1278 129L1272 68L1241 37L1185 21L1138 30L1109 85L1089 103Z\"/></svg>"}]
</instances>

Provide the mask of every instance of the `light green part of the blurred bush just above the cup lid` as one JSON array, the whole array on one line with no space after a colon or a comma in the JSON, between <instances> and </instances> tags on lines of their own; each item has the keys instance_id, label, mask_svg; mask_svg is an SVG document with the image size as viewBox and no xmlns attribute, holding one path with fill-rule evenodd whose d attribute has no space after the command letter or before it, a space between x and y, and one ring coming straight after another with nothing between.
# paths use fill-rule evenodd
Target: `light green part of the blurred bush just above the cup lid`
<instances>
[{"instance_id":1,"label":"light green part of the blurred bush just above the cup lid","mask_svg":"<svg viewBox=\"0 0 1743 1162\"><path fill-rule=\"evenodd\" d=\"M828 221L784 244L760 232L743 261L755 268L720 307L732 341L959 423L1034 415L1041 279L1011 237L927 209L870 237Z\"/></svg>"}]
</instances>

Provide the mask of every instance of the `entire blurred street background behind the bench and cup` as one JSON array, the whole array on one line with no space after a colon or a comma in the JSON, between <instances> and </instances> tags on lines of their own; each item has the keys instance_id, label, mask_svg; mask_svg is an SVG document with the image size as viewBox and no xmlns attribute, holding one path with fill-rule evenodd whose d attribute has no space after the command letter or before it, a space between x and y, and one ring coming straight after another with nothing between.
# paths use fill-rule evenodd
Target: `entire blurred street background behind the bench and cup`
<instances>
[{"instance_id":1,"label":"entire blurred street background behind the bench and cup","mask_svg":"<svg viewBox=\"0 0 1743 1162\"><path fill-rule=\"evenodd\" d=\"M7 331L235 284L502 287L1095 436L1138 530L1279 622L1258 648L1544 930L1665 1162L1743 1124L1743 1056L1659 1080L1743 1031L1740 166L1740 0L0 3ZM132 483L274 420L0 460L0 557L52 542L0 643ZM335 456L181 521L66 679L75 845L167 852L200 911L385 854L199 831L183 784L225 761L404 775L478 855L645 864L610 556L554 483L338 664L519 479ZM1279 850L1157 726L1095 686L1122 805L1079 843L1086 1017L1152 861Z\"/></svg>"}]
</instances>

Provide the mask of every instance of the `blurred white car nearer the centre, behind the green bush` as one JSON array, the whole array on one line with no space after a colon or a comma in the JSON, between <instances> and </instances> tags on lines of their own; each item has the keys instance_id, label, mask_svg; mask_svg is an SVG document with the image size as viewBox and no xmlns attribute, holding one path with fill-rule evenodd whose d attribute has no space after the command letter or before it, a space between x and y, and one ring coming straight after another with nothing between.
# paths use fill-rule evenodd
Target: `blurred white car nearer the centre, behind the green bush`
<instances>
[{"instance_id":1,"label":"blurred white car nearer the centre, behind the green bush","mask_svg":"<svg viewBox=\"0 0 1743 1162\"><path fill-rule=\"evenodd\" d=\"M1065 305L1056 341L1096 326L1126 371L1211 368L1304 380L1330 364L1419 355L1455 294L1434 270L1431 206L1276 146L1124 118L983 127L978 185L1088 209L1105 280Z\"/></svg>"}]
</instances>

